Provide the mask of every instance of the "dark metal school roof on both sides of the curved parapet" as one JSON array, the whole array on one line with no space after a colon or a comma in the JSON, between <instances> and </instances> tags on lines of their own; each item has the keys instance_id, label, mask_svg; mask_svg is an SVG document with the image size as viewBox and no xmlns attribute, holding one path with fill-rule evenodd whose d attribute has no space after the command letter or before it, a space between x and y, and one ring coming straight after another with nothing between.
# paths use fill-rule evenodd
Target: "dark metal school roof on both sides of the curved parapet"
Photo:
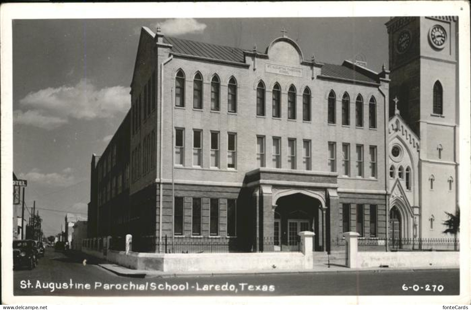
<instances>
[{"instance_id":1,"label":"dark metal school roof on both sides of the curved parapet","mask_svg":"<svg viewBox=\"0 0 471 310\"><path fill-rule=\"evenodd\" d=\"M204 57L210 59L244 63L244 49L228 46L209 44L174 37L163 37L163 42L172 45L172 52L176 54ZM341 78L358 82L377 83L377 81L367 77L344 65L322 65L321 75L333 78Z\"/></svg>"}]
</instances>

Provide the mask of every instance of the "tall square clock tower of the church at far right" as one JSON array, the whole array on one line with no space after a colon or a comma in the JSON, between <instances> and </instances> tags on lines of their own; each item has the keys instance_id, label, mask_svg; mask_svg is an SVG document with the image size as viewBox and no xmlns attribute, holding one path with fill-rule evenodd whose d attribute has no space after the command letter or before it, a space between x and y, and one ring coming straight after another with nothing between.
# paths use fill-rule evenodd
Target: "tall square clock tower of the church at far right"
<instances>
[{"instance_id":1,"label":"tall square clock tower of the church at far right","mask_svg":"<svg viewBox=\"0 0 471 310\"><path fill-rule=\"evenodd\" d=\"M409 138L419 139L412 163L418 188L411 189L420 212L417 237L451 237L442 235L441 223L458 206L458 18L394 17L386 27L390 98L398 98L390 102L390 115L400 114Z\"/></svg>"}]
</instances>

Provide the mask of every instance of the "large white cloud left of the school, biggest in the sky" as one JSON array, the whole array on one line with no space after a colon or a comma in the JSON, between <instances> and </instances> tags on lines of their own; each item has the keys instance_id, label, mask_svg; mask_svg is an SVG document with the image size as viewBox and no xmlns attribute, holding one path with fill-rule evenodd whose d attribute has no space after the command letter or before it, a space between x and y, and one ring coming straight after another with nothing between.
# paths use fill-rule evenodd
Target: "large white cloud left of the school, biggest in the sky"
<instances>
[{"instance_id":1,"label":"large white cloud left of the school, biggest in the sky","mask_svg":"<svg viewBox=\"0 0 471 310\"><path fill-rule=\"evenodd\" d=\"M75 86L60 86L29 93L20 100L25 113L17 112L16 122L54 129L69 118L91 120L124 114L130 106L130 88L123 86L97 90L89 80Z\"/></svg>"}]
</instances>

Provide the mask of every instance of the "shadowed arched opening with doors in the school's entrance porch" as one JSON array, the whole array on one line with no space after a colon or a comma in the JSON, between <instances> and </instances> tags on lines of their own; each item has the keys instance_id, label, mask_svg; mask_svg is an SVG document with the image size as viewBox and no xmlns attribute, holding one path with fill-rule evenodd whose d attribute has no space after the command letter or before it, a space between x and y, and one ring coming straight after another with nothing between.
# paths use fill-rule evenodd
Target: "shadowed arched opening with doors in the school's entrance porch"
<instances>
[{"instance_id":1,"label":"shadowed arched opening with doors in the school's entrance porch","mask_svg":"<svg viewBox=\"0 0 471 310\"><path fill-rule=\"evenodd\" d=\"M324 251L325 215L321 200L303 192L286 194L276 199L275 244L281 247L296 244L299 240L298 233L308 230L315 233L313 249Z\"/></svg>"}]
</instances>

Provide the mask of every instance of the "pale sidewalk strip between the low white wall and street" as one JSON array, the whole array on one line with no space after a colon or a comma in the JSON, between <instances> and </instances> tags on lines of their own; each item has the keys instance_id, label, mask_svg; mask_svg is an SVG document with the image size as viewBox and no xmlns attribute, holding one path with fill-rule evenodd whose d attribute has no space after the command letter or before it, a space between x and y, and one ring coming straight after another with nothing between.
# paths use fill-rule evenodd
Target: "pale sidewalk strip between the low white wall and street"
<instances>
[{"instance_id":1,"label":"pale sidewalk strip between the low white wall and street","mask_svg":"<svg viewBox=\"0 0 471 310\"><path fill-rule=\"evenodd\" d=\"M212 276L228 276L228 275L270 275L270 274L304 274L304 273L328 273L328 272L394 272L394 271L417 271L430 269L458 269L456 267L425 267L425 268L347 268L342 266L317 265L313 269L301 270L276 270L276 269L260 269L260 270L234 270L234 271L182 271L182 272L165 272L157 270L135 270L122 267L115 264L101 263L97 264L103 269L111 271L123 277L212 277Z\"/></svg>"}]
</instances>

